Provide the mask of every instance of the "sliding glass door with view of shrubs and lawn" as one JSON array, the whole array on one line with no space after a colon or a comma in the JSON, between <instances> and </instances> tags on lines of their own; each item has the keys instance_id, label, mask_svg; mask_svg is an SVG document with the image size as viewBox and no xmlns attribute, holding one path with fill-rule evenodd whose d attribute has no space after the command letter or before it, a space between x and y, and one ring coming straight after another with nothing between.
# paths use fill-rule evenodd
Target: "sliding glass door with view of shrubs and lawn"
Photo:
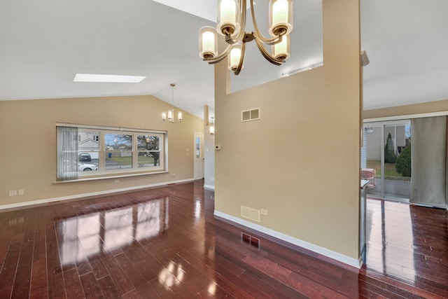
<instances>
[{"instance_id":1,"label":"sliding glass door with view of shrubs and lawn","mask_svg":"<svg viewBox=\"0 0 448 299\"><path fill-rule=\"evenodd\" d=\"M409 120L365 123L362 165L374 169L374 188L367 195L409 201L411 125Z\"/></svg>"}]
</instances>

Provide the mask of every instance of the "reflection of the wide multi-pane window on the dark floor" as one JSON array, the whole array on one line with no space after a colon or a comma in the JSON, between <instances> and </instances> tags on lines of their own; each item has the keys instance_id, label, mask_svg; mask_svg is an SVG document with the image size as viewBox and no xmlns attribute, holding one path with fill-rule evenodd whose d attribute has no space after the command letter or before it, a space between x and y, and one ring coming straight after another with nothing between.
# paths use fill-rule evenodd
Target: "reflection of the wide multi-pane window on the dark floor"
<instances>
[{"instance_id":1,"label":"reflection of the wide multi-pane window on the dark floor","mask_svg":"<svg viewBox=\"0 0 448 299\"><path fill-rule=\"evenodd\" d=\"M79 263L102 252L155 237L168 228L169 198L132 206L97 211L66 218L56 223L59 234L61 265Z\"/></svg>"}]
</instances>

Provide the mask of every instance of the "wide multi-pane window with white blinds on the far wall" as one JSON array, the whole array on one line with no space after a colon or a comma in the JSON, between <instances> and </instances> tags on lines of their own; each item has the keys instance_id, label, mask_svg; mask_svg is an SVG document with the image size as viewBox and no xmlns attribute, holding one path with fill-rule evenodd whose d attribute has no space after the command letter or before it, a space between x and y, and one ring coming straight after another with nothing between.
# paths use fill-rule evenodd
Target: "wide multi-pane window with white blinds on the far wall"
<instances>
[{"instance_id":1,"label":"wide multi-pane window with white blinds on the far wall","mask_svg":"<svg viewBox=\"0 0 448 299\"><path fill-rule=\"evenodd\" d=\"M165 132L57 126L57 181L165 170Z\"/></svg>"}]
</instances>

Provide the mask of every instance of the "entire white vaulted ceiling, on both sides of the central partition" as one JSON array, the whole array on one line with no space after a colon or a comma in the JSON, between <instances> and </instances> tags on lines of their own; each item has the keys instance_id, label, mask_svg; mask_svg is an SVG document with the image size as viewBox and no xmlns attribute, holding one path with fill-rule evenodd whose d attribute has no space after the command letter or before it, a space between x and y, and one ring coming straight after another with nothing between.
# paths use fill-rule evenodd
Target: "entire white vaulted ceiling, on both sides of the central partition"
<instances>
[{"instance_id":1,"label":"entire white vaulted ceiling, on both sides of the central partition","mask_svg":"<svg viewBox=\"0 0 448 299\"><path fill-rule=\"evenodd\" d=\"M255 2L255 11L267 5ZM448 1L360 2L365 109L448 99ZM246 57L232 90L321 61L321 1L294 6L297 45L284 69L250 43L246 55L260 63ZM154 95L171 103L176 83L174 104L202 118L204 104L213 111L214 70L197 54L197 34L214 26L215 11L213 0L0 0L0 100ZM74 83L76 73L148 78Z\"/></svg>"}]
</instances>

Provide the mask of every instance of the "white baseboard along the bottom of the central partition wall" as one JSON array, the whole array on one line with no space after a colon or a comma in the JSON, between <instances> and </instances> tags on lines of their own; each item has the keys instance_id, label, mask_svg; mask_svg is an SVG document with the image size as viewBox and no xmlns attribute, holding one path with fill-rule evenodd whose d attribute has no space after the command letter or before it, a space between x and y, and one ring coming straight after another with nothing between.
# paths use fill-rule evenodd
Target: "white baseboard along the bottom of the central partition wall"
<instances>
[{"instance_id":1,"label":"white baseboard along the bottom of the central partition wall","mask_svg":"<svg viewBox=\"0 0 448 299\"><path fill-rule=\"evenodd\" d=\"M276 239L279 239L283 242L288 242L290 244L293 244L295 246L300 246L304 249L313 251L315 253L321 254L322 256L325 256L327 258L331 258L333 260L336 260L338 262L344 263L345 265L349 265L351 267L354 267L356 269L360 269L362 262L356 258L350 258L349 256L345 256L344 254L337 253L335 251L331 251L330 249L325 249L321 246L317 246L315 244L303 241L301 239L297 239L295 237L291 237L289 235L285 235L281 232L277 232L276 230L271 230L269 228L265 228L261 225L251 223L249 221L245 221L243 219L237 218L235 216L231 216L228 214L225 214L221 211L214 211L214 215L223 218L227 221L230 221L232 223L237 223L237 225L242 225L246 228L250 228L251 230L255 230L257 232L261 232L262 234L268 235L270 237L274 237Z\"/></svg>"}]
</instances>

